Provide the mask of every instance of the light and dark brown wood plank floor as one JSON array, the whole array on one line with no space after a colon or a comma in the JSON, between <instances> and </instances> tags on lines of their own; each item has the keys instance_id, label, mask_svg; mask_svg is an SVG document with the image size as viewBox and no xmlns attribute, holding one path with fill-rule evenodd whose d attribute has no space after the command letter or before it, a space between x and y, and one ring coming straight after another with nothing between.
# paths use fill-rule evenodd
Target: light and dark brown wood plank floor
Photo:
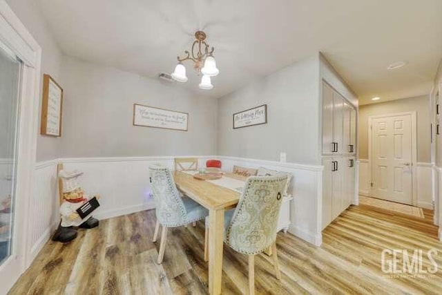
<instances>
[{"instance_id":1,"label":"light and dark brown wood plank floor","mask_svg":"<svg viewBox=\"0 0 442 295\"><path fill-rule=\"evenodd\" d=\"M442 294L442 270L425 277L389 276L381 269L383 249L428 249L442 267L432 212L412 218L368 206L352 206L323 231L314 247L291 234L278 234L281 280L271 257L255 258L257 294ZM171 229L164 262L157 265L160 242L151 242L155 212L102 220L79 230L63 245L49 241L10 294L206 294L204 223ZM390 260L391 260L391 256ZM247 256L224 247L222 294L247 292ZM402 267L402 264L399 265Z\"/></svg>"}]
</instances>

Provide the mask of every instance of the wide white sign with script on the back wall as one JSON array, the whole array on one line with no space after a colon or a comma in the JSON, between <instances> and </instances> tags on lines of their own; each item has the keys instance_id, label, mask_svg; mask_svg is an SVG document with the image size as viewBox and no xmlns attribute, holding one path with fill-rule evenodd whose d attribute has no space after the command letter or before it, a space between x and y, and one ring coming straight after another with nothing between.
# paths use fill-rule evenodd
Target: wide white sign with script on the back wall
<instances>
[{"instance_id":1,"label":"wide white sign with script on the back wall","mask_svg":"<svg viewBox=\"0 0 442 295\"><path fill-rule=\"evenodd\" d=\"M133 104L133 126L187 131L188 113Z\"/></svg>"}]
</instances>

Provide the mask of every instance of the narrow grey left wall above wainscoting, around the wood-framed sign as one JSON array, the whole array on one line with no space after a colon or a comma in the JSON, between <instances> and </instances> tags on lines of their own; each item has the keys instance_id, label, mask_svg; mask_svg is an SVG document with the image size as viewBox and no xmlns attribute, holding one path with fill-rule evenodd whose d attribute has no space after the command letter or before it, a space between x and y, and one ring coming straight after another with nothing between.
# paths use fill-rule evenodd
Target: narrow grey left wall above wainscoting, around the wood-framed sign
<instances>
[{"instance_id":1,"label":"narrow grey left wall above wainscoting, around the wood-framed sign","mask_svg":"<svg viewBox=\"0 0 442 295\"><path fill-rule=\"evenodd\" d=\"M28 29L32 37L41 46L41 77L43 74L49 74L61 86L63 80L60 77L61 60L63 54L57 46L55 39L52 37L50 30L46 26L46 21L41 16L41 12L37 5L37 1L32 0L7 0L10 8L19 17L23 25ZM40 86L40 102L39 102L39 124L41 116L41 89L43 88L43 81ZM39 133L39 130L35 131ZM58 158L60 149L60 137L50 137L45 135L38 135L37 137L37 161L50 160Z\"/></svg>"}]
</instances>

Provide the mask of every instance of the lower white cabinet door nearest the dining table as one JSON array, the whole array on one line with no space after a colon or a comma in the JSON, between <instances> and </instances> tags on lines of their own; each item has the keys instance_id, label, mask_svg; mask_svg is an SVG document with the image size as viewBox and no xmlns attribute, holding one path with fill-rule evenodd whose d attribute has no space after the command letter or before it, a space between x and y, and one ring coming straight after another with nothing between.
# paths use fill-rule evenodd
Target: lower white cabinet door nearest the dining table
<instances>
[{"instance_id":1,"label":"lower white cabinet door nearest the dining table","mask_svg":"<svg viewBox=\"0 0 442 295\"><path fill-rule=\"evenodd\" d=\"M333 159L323 158L323 229L333 220Z\"/></svg>"}]
</instances>

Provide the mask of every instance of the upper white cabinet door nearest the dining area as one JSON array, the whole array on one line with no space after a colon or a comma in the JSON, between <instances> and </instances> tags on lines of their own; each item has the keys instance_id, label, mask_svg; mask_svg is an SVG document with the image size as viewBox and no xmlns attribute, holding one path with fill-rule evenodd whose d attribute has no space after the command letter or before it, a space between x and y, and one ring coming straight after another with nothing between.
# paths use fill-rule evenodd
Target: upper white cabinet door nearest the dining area
<instances>
[{"instance_id":1,"label":"upper white cabinet door nearest the dining area","mask_svg":"<svg viewBox=\"0 0 442 295\"><path fill-rule=\"evenodd\" d=\"M323 154L333 152L333 89L323 82Z\"/></svg>"}]
</instances>

